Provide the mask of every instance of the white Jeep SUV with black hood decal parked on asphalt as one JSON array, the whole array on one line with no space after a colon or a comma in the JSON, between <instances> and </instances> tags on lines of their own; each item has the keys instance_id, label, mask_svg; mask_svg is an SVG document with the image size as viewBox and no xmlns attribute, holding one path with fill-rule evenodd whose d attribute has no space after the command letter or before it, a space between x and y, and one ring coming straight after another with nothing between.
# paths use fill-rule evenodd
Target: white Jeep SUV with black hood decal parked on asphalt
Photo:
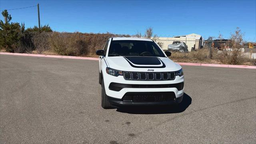
<instances>
[{"instance_id":1,"label":"white Jeep SUV with black hood decal parked on asphalt","mask_svg":"<svg viewBox=\"0 0 256 144\"><path fill-rule=\"evenodd\" d=\"M153 40L110 38L99 55L102 108L124 105L178 104L184 76Z\"/></svg>"}]
</instances>

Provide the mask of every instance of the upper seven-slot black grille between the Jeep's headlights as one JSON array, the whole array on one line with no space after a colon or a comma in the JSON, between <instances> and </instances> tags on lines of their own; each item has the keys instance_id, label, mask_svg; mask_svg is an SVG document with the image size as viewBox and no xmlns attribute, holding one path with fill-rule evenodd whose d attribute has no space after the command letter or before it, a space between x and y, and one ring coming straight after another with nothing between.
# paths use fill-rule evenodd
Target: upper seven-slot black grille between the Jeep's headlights
<instances>
[{"instance_id":1,"label":"upper seven-slot black grille between the Jeep's headlights","mask_svg":"<svg viewBox=\"0 0 256 144\"><path fill-rule=\"evenodd\" d=\"M175 72L124 72L126 80L174 80Z\"/></svg>"}]
</instances>

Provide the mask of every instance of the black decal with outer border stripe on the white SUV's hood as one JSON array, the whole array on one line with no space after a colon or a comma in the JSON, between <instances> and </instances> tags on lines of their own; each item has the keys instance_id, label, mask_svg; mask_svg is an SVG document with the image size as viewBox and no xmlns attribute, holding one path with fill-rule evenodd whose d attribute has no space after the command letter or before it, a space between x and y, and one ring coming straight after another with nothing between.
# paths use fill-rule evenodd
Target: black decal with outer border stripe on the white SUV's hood
<instances>
[{"instance_id":1,"label":"black decal with outer border stripe on the white SUV's hood","mask_svg":"<svg viewBox=\"0 0 256 144\"><path fill-rule=\"evenodd\" d=\"M158 57L124 56L124 58L134 68L165 68L166 67L164 62L162 62L162 60L160 60ZM141 65L141 66L138 66L138 65ZM146 66L146 65L150 65L150 66ZM156 66L152 66L152 65L156 65Z\"/></svg>"}]
</instances>

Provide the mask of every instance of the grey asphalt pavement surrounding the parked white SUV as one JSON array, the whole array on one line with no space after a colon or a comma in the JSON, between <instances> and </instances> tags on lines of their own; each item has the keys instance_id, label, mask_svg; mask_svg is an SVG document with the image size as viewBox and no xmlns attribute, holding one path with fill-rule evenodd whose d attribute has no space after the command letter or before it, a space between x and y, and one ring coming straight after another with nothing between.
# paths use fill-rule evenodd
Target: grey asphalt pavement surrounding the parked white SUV
<instances>
[{"instance_id":1,"label":"grey asphalt pavement surrounding the parked white SUV","mask_svg":"<svg viewBox=\"0 0 256 144\"><path fill-rule=\"evenodd\" d=\"M0 55L0 143L255 143L256 70L183 68L180 107L104 110L97 61Z\"/></svg>"}]
</instances>

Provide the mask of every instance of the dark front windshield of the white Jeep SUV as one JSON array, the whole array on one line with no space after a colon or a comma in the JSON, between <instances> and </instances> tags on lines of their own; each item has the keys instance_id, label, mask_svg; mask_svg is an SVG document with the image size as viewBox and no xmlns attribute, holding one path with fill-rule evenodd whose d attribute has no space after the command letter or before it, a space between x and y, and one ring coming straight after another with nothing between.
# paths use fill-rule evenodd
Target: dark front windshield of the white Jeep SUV
<instances>
[{"instance_id":1,"label":"dark front windshield of the white Jeep SUV","mask_svg":"<svg viewBox=\"0 0 256 144\"><path fill-rule=\"evenodd\" d=\"M113 40L108 56L158 56L165 57L156 43L142 40Z\"/></svg>"}]
</instances>

